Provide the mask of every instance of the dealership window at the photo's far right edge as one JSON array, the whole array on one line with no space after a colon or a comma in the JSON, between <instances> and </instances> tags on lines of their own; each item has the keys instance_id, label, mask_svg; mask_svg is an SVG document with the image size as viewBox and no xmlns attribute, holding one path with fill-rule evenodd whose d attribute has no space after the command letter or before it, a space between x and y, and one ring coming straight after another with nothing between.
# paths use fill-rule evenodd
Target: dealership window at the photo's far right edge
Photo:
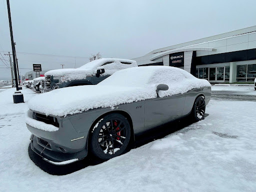
<instances>
[{"instance_id":1,"label":"dealership window at the photo's far right edge","mask_svg":"<svg viewBox=\"0 0 256 192\"><path fill-rule=\"evenodd\" d=\"M253 82L256 77L256 64L236 66L236 81Z\"/></svg>"}]
</instances>

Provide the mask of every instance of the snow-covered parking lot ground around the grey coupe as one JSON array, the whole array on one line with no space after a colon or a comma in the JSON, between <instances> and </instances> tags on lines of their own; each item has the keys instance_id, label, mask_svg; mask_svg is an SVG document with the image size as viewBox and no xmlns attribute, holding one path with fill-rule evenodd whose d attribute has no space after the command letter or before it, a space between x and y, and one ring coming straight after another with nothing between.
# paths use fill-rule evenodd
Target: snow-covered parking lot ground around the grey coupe
<instances>
[{"instance_id":1,"label":"snow-covered parking lot ground around the grey coupe","mask_svg":"<svg viewBox=\"0 0 256 192\"><path fill-rule=\"evenodd\" d=\"M0 191L256 189L254 101L212 99L204 120L101 164L56 176L28 156L23 111L35 93L23 88L25 103L13 104L13 92L0 92Z\"/></svg>"}]
</instances>

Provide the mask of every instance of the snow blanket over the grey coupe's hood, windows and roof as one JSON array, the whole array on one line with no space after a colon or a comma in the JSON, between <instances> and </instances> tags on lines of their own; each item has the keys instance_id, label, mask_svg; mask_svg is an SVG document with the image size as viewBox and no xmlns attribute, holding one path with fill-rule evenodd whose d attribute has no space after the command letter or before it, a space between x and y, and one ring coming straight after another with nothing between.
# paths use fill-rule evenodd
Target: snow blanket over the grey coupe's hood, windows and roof
<instances>
[{"instance_id":1,"label":"snow blanket over the grey coupe's hood, windows and roof","mask_svg":"<svg viewBox=\"0 0 256 192\"><path fill-rule=\"evenodd\" d=\"M37 95L28 101L28 107L46 115L65 116L88 109L155 98L156 86L160 83L169 86L168 90L159 91L160 97L210 86L207 80L198 79L176 67L131 67L115 72L97 85L66 87ZM73 92L75 94L70 97Z\"/></svg>"}]
</instances>

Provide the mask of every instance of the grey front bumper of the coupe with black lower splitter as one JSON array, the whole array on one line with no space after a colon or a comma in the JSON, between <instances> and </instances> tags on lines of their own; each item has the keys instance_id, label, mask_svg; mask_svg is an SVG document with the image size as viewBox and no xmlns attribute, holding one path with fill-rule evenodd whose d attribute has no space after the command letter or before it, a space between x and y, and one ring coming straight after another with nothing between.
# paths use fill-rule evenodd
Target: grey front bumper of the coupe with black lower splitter
<instances>
[{"instance_id":1,"label":"grey front bumper of the coupe with black lower splitter","mask_svg":"<svg viewBox=\"0 0 256 192\"><path fill-rule=\"evenodd\" d=\"M88 132L77 132L68 118L59 120L59 124L58 130L46 131L26 123L32 133L31 149L53 164L66 164L63 161L70 163L72 159L84 158L87 155Z\"/></svg>"}]
</instances>

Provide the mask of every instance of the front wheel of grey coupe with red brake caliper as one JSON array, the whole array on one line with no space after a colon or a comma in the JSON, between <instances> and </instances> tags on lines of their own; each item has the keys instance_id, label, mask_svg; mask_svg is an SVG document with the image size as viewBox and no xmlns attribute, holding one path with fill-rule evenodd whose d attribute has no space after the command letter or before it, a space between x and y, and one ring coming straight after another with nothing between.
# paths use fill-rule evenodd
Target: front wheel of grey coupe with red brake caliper
<instances>
[{"instance_id":1,"label":"front wheel of grey coupe with red brake caliper","mask_svg":"<svg viewBox=\"0 0 256 192\"><path fill-rule=\"evenodd\" d=\"M118 156L127 148L130 132L129 122L123 115L107 114L91 130L90 151L103 160Z\"/></svg>"}]
</instances>

